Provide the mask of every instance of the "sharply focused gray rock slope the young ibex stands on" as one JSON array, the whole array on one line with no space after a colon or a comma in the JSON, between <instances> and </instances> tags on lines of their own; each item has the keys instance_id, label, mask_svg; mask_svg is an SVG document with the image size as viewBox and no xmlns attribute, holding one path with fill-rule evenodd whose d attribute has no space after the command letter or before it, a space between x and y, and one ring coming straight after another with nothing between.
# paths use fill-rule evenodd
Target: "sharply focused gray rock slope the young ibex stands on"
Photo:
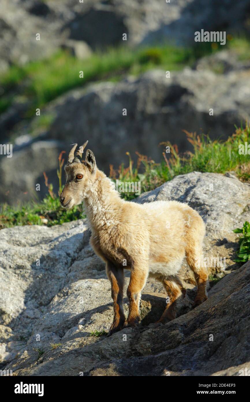
<instances>
[{"instance_id":1,"label":"sharply focused gray rock slope the young ibex stands on","mask_svg":"<svg viewBox=\"0 0 250 402\"><path fill-rule=\"evenodd\" d=\"M250 187L232 175L193 172L138 199L188 202L206 223L204 254L227 254L228 275L211 270L224 277L191 310L195 287L183 266L187 296L178 318L165 325L153 323L166 295L148 281L140 327L110 338L91 336L108 330L113 309L104 263L89 246L84 220L1 230L1 368L14 375L239 375L250 363L250 264L232 265L231 231L249 216L249 196ZM124 304L127 314L126 298Z\"/></svg>"}]
</instances>

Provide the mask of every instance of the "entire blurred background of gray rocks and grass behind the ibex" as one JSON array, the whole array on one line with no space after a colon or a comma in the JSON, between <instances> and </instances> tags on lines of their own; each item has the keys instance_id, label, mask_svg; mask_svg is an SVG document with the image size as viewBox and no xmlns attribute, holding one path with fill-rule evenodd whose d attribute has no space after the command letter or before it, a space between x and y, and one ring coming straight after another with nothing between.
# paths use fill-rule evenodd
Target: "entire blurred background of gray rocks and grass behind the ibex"
<instances>
[{"instance_id":1,"label":"entire blurred background of gray rocks and grass behind the ibex","mask_svg":"<svg viewBox=\"0 0 250 402\"><path fill-rule=\"evenodd\" d=\"M201 29L226 45L195 43ZM0 143L13 156L0 155L0 202L29 201L37 183L43 197L44 171L57 189L75 142L109 174L127 151L189 150L183 129L227 138L250 119L249 30L246 0L2 0Z\"/></svg>"}]
</instances>

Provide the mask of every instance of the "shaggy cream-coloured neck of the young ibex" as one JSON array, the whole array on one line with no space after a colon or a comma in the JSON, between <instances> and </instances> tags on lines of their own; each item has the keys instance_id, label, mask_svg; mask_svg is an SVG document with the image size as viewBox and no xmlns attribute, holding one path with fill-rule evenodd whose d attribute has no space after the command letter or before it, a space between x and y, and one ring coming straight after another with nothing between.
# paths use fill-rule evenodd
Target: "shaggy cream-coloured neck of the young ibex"
<instances>
[{"instance_id":1,"label":"shaggy cream-coloured neck of the young ibex","mask_svg":"<svg viewBox=\"0 0 250 402\"><path fill-rule=\"evenodd\" d=\"M98 170L96 182L84 199L90 229L110 231L112 227L119 224L120 208L123 202L112 186L111 180Z\"/></svg>"}]
</instances>

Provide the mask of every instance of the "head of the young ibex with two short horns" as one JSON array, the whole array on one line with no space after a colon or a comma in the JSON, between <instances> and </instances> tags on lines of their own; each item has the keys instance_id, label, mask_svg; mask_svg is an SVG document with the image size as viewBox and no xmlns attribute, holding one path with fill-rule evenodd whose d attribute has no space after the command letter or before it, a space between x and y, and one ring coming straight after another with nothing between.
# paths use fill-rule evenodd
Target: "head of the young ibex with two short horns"
<instances>
[{"instance_id":1,"label":"head of the young ibex with two short horns","mask_svg":"<svg viewBox=\"0 0 250 402\"><path fill-rule=\"evenodd\" d=\"M91 150L86 151L85 160L81 161L87 141L74 155L77 144L69 152L68 162L65 165L66 184L60 195L60 202L64 208L71 208L80 204L96 180L96 160Z\"/></svg>"}]
</instances>

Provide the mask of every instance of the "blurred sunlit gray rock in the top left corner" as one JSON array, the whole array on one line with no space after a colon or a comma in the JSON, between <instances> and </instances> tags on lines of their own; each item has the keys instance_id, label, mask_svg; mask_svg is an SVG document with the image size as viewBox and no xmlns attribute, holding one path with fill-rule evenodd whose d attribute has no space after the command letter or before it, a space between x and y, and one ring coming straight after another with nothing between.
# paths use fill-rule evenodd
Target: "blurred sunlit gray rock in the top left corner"
<instances>
[{"instance_id":1,"label":"blurred sunlit gray rock in the top left corner","mask_svg":"<svg viewBox=\"0 0 250 402\"><path fill-rule=\"evenodd\" d=\"M0 56L9 64L22 65L34 59L48 57L61 43L60 37L56 35L61 24L59 19L53 18L49 7L45 4L40 6L47 9L46 20L44 15L35 12L35 2L25 3L19 0L1 2L0 24L4 29L1 30ZM34 12L26 10L26 6ZM36 40L37 33L40 34L40 41Z\"/></svg>"}]
</instances>

